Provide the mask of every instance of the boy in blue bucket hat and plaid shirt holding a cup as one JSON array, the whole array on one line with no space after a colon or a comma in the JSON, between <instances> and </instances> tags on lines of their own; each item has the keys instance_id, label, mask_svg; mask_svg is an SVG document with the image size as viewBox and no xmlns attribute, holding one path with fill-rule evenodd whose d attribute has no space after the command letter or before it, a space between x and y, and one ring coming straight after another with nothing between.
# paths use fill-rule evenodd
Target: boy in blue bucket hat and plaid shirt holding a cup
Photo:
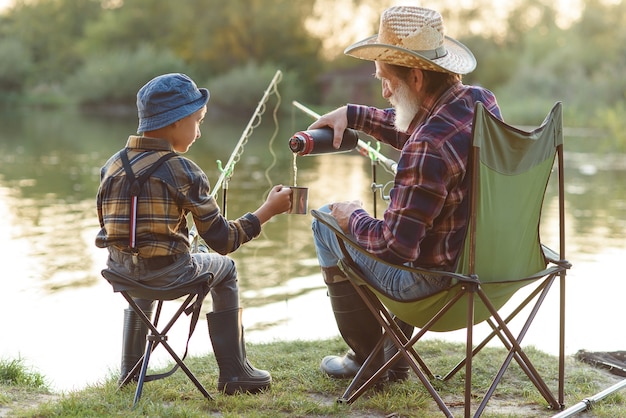
<instances>
[{"instance_id":1,"label":"boy in blue bucket hat and plaid shirt holding a cup","mask_svg":"<svg viewBox=\"0 0 626 418\"><path fill-rule=\"evenodd\" d=\"M96 245L108 248L110 270L151 286L207 277L213 301L207 321L220 370L218 389L227 394L255 393L270 386L271 376L246 358L237 270L226 254L257 237L261 225L274 215L289 210L291 190L274 186L254 213L237 220L220 214L205 173L180 155L200 138L208 100L209 91L196 87L184 74L158 76L139 90L139 135L131 135L126 147L101 170L97 196L101 230ZM140 176L168 154L170 158L160 161L141 188L136 207L131 208L129 177ZM135 216L131 213L136 214L132 224ZM188 213L198 234L215 252L190 253ZM137 302L150 316L153 301ZM146 333L139 317L126 309L120 381L141 358Z\"/></svg>"}]
</instances>

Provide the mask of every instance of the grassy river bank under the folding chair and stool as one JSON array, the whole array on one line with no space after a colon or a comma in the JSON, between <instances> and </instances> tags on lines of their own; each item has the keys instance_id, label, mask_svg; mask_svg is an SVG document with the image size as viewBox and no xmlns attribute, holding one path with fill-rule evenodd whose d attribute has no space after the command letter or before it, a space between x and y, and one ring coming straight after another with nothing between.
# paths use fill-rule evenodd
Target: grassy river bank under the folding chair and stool
<instances>
[{"instance_id":1,"label":"grassy river bank under the folding chair and stool","mask_svg":"<svg viewBox=\"0 0 626 418\"><path fill-rule=\"evenodd\" d=\"M462 346L441 341L421 343L419 351L433 365L435 373L447 371L462 353ZM352 405L335 402L348 381L326 378L318 369L319 360L329 353L342 353L339 339L312 342L276 342L248 345L248 356L259 368L272 372L271 390L259 395L225 396L216 391L217 365L212 355L187 361L214 400L205 400L182 371L144 386L140 403L132 409L134 385L118 390L117 376L77 392L50 394L40 385L3 381L0 386L0 416L15 417L440 417L443 416L419 380L388 384L378 392L370 392ZM544 375L556 376L557 359L530 350L529 356ZM488 349L475 359L477 400L489 387L487 370L499 366L504 351ZM568 358L566 366L566 407L612 386L618 378L584 363ZM549 379L550 387L555 380ZM436 383L453 413L462 415L463 376L450 382ZM626 416L626 393L612 394L597 403L593 410L578 416L615 418ZM484 417L550 417L555 411L527 382L513 365L507 371Z\"/></svg>"}]
</instances>

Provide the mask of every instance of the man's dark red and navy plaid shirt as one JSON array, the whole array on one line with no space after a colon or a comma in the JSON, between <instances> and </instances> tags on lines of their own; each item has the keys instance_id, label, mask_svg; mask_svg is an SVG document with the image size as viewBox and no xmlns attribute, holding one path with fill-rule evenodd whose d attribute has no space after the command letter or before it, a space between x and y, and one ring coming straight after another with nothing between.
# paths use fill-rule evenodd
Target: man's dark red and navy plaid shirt
<instances>
[{"instance_id":1,"label":"man's dark red and navy plaid shirt","mask_svg":"<svg viewBox=\"0 0 626 418\"><path fill-rule=\"evenodd\" d=\"M393 109L348 105L348 125L401 150L383 219L364 210L350 218L359 245L396 264L452 270L468 221L466 178L474 103L500 115L490 91L457 83L424 101L409 133L395 130Z\"/></svg>"}]
</instances>

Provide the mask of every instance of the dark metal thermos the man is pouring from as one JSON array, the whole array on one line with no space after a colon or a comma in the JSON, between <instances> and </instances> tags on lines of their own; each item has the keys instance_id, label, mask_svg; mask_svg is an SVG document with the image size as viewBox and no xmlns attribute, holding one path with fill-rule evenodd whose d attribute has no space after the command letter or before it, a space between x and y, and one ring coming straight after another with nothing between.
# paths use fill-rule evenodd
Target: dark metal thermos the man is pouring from
<instances>
[{"instance_id":1,"label":"dark metal thermos the man is pouring from","mask_svg":"<svg viewBox=\"0 0 626 418\"><path fill-rule=\"evenodd\" d=\"M289 148L294 154L316 155L347 152L353 150L359 141L354 129L346 129L339 148L333 147L332 128L310 129L296 132L289 140Z\"/></svg>"}]
</instances>

